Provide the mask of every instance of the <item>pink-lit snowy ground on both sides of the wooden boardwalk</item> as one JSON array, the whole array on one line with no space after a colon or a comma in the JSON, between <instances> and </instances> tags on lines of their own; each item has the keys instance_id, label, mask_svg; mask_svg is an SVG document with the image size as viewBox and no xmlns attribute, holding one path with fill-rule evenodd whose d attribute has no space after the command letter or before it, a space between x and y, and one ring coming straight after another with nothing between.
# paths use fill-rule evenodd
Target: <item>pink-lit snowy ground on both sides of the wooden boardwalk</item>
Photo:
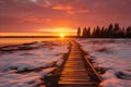
<instances>
[{"instance_id":1,"label":"pink-lit snowy ground on both sides of the wooden boardwalk","mask_svg":"<svg viewBox=\"0 0 131 87\"><path fill-rule=\"evenodd\" d=\"M100 73L103 87L131 86L130 39L76 39ZM60 71L70 44L34 41L0 48L0 87L37 87ZM48 78L47 78L48 79ZM53 80L53 78L51 79Z\"/></svg>"}]
</instances>

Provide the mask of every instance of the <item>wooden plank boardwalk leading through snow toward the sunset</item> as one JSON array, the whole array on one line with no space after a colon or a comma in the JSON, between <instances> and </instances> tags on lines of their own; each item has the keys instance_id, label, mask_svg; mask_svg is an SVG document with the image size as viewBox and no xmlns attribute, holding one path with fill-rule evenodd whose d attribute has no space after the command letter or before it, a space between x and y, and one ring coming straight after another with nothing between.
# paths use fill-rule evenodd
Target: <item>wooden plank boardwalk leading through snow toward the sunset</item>
<instances>
[{"instance_id":1,"label":"wooden plank boardwalk leading through snow toward the sunset","mask_svg":"<svg viewBox=\"0 0 131 87\"><path fill-rule=\"evenodd\" d=\"M81 48L75 41L70 42L72 47L58 82L59 87L98 87L99 79L90 75Z\"/></svg>"}]
</instances>

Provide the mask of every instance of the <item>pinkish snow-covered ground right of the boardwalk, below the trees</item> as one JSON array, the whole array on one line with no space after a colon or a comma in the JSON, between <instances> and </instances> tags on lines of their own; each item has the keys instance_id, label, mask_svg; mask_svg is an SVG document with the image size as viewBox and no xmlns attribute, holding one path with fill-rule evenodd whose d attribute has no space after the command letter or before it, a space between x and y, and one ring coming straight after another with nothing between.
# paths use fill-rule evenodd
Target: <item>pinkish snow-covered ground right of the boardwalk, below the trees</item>
<instances>
[{"instance_id":1,"label":"pinkish snow-covered ground right of the boardwalk, below the trees","mask_svg":"<svg viewBox=\"0 0 131 87\"><path fill-rule=\"evenodd\" d=\"M100 70L103 87L131 87L131 39L76 39Z\"/></svg>"}]
</instances>

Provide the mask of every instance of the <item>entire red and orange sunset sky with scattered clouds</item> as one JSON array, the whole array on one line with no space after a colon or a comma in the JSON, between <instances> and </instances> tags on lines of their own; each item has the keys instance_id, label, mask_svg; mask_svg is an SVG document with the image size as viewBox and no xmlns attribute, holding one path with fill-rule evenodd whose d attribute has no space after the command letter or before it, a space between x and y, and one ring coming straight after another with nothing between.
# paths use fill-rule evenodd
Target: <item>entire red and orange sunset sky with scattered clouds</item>
<instances>
[{"instance_id":1,"label":"entire red and orange sunset sky with scattered clouds","mask_svg":"<svg viewBox=\"0 0 131 87\"><path fill-rule=\"evenodd\" d=\"M131 25L131 0L0 0L0 34L71 33L78 27Z\"/></svg>"}]
</instances>

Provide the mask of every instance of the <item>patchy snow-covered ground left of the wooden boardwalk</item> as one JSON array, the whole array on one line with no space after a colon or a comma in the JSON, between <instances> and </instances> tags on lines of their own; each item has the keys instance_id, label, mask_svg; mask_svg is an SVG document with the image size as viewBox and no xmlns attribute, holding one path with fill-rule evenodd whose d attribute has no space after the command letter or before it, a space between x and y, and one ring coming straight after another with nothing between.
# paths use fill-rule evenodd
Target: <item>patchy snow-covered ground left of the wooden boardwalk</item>
<instances>
[{"instance_id":1,"label":"patchy snow-covered ground left of the wooden boardwalk","mask_svg":"<svg viewBox=\"0 0 131 87\"><path fill-rule=\"evenodd\" d=\"M38 41L0 48L0 87L35 87L59 69L68 41Z\"/></svg>"}]
</instances>

